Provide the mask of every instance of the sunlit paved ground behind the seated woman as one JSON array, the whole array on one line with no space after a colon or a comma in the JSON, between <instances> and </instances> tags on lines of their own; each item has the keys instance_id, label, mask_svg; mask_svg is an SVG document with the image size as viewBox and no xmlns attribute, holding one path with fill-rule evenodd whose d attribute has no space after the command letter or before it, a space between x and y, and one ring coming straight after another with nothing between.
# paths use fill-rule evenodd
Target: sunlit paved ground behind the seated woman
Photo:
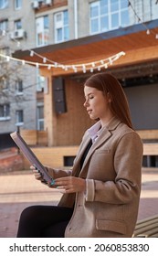
<instances>
[{"instance_id":1,"label":"sunlit paved ground behind the seated woman","mask_svg":"<svg viewBox=\"0 0 158 256\"><path fill-rule=\"evenodd\" d=\"M16 237L23 208L35 204L56 205L61 194L41 185L29 171L0 175L0 238ZM158 169L142 170L142 194L138 219L158 214Z\"/></svg>"}]
</instances>

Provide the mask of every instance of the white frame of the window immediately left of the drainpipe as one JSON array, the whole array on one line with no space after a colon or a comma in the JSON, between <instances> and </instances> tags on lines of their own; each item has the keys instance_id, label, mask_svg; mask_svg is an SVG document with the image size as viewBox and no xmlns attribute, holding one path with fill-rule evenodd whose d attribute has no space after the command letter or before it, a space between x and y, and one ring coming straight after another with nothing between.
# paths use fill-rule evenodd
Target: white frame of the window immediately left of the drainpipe
<instances>
[{"instance_id":1,"label":"white frame of the window immediately left of the drainpipe","mask_svg":"<svg viewBox=\"0 0 158 256\"><path fill-rule=\"evenodd\" d=\"M68 23L64 23L64 15L67 12L68 15L68 10L64 10L62 12L58 12L54 15L54 24L55 24L55 43L61 43L68 41L69 39L69 26ZM61 19L58 20L58 16L61 16ZM61 31L61 39L58 39L58 30L60 29ZM66 29L68 29L68 37L65 37L65 32Z\"/></svg>"}]
</instances>

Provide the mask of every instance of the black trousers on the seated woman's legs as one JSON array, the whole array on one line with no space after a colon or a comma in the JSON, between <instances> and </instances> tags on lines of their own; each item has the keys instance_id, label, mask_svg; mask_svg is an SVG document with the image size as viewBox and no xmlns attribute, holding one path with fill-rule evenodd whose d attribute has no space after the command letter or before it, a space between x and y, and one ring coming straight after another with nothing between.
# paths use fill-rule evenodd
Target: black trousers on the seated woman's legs
<instances>
[{"instance_id":1,"label":"black trousers on the seated woman's legs","mask_svg":"<svg viewBox=\"0 0 158 256\"><path fill-rule=\"evenodd\" d=\"M17 238L64 238L73 208L31 206L21 213Z\"/></svg>"}]
</instances>

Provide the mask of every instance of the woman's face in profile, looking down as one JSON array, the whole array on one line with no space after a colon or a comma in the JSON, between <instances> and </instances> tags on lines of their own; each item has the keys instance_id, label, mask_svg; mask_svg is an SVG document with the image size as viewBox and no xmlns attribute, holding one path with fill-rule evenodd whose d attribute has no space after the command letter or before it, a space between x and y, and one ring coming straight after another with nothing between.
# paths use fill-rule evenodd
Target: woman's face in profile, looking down
<instances>
[{"instance_id":1,"label":"woman's face in profile, looking down","mask_svg":"<svg viewBox=\"0 0 158 256\"><path fill-rule=\"evenodd\" d=\"M84 87L84 94L86 99L84 107L90 115L90 119L100 118L102 123L109 122L112 117L109 107L111 103L109 94L104 95L103 91L88 86Z\"/></svg>"}]
</instances>

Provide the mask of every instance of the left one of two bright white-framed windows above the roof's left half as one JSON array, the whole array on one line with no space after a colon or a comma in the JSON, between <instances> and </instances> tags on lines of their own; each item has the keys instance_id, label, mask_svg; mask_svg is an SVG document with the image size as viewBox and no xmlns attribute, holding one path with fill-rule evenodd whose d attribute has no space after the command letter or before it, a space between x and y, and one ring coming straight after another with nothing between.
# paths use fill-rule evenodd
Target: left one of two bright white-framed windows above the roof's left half
<instances>
[{"instance_id":1,"label":"left one of two bright white-framed windows above the roof's left half","mask_svg":"<svg viewBox=\"0 0 158 256\"><path fill-rule=\"evenodd\" d=\"M45 46L48 44L48 16L38 17L36 20L37 26L37 46Z\"/></svg>"}]
</instances>

